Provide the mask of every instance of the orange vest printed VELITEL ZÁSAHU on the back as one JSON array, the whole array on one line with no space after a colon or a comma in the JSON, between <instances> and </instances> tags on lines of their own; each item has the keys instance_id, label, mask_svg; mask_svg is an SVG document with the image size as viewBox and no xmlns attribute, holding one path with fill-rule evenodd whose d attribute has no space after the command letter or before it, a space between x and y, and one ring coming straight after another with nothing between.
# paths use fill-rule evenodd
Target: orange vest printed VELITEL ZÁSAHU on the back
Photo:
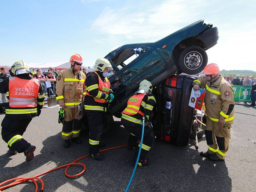
<instances>
[{"instance_id":1,"label":"orange vest printed VELITEL Z\u00c1SAHU on the back","mask_svg":"<svg viewBox=\"0 0 256 192\"><path fill-rule=\"evenodd\" d=\"M9 106L12 108L36 107L40 83L37 79L9 77Z\"/></svg>"}]
</instances>

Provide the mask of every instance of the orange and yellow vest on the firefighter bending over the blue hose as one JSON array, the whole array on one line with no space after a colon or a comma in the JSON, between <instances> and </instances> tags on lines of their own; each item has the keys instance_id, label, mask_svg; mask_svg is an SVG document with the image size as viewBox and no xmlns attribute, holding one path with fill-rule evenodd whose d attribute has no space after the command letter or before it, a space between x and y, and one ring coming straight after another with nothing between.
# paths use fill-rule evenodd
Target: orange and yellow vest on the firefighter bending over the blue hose
<instances>
[{"instance_id":1,"label":"orange and yellow vest on the firefighter bending over the blue hose","mask_svg":"<svg viewBox=\"0 0 256 192\"><path fill-rule=\"evenodd\" d=\"M140 115L144 116L144 113L140 111L140 105L142 100L146 94L138 93L137 95L133 95L127 102L127 107L124 109L122 113L126 115L135 115L139 113Z\"/></svg>"}]
</instances>

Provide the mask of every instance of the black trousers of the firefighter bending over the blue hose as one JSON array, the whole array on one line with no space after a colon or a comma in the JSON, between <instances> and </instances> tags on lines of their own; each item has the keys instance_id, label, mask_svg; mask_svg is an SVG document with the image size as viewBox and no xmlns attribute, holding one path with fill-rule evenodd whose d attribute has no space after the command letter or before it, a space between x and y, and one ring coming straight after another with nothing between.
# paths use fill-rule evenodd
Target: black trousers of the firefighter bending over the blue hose
<instances>
[{"instance_id":1,"label":"black trousers of the firefighter bending over the blue hose","mask_svg":"<svg viewBox=\"0 0 256 192\"><path fill-rule=\"evenodd\" d=\"M131 134L128 139L128 147L135 147L136 151L133 156L133 160L137 159L138 152L139 152L139 145L137 145L138 138L141 138L142 133L142 125L140 124L134 124L134 125L124 125L124 128L129 131ZM148 154L153 142L154 142L155 136L151 132L151 130L148 129L147 126L144 127L144 136L141 146L141 152L140 152L140 160L144 161L146 155Z\"/></svg>"}]
</instances>

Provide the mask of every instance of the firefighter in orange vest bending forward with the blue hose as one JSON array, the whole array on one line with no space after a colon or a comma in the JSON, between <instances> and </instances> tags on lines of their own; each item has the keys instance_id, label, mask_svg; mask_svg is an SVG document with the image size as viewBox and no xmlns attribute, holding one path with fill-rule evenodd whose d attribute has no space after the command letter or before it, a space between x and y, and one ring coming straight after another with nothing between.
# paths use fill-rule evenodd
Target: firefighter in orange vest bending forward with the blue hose
<instances>
[{"instance_id":1,"label":"firefighter in orange vest bending forward with the blue hose","mask_svg":"<svg viewBox=\"0 0 256 192\"><path fill-rule=\"evenodd\" d=\"M133 164L136 163L138 156L140 143L136 146L136 142L138 138L141 138L142 117L145 116L144 136L138 162L139 167L149 165L149 160L145 157L155 138L148 127L149 116L152 116L153 108L156 105L156 99L151 93L152 88L152 84L148 80L145 79L141 81L139 90L130 97L127 107L122 112L121 124L123 124L124 128L131 133L128 140L128 149L136 148L133 156Z\"/></svg>"}]
</instances>

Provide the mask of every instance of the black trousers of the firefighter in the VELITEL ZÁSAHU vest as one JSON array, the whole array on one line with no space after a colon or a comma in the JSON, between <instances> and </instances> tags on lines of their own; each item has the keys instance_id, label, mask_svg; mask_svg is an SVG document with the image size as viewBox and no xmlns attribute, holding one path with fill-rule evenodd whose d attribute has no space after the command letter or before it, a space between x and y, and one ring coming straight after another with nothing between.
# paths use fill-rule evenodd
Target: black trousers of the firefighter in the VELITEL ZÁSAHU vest
<instances>
[{"instance_id":1,"label":"black trousers of the firefighter in the VELITEL Z\u00c1SAHU vest","mask_svg":"<svg viewBox=\"0 0 256 192\"><path fill-rule=\"evenodd\" d=\"M23 139L22 135L26 131L30 119L11 119L4 117L2 121L2 138L8 144L9 148L14 149L18 153L25 152L30 143Z\"/></svg>"}]
</instances>

